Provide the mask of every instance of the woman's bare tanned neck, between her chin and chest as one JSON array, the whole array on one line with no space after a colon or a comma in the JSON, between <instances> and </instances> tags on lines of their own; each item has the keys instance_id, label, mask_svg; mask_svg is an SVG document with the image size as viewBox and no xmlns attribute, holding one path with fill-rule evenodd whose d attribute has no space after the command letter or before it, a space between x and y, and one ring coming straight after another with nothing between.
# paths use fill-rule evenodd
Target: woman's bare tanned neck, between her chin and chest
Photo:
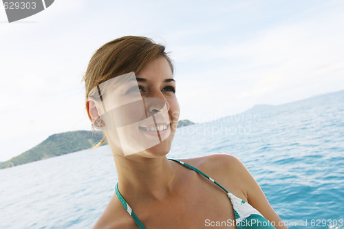
<instances>
[{"instance_id":1,"label":"woman's bare tanned neck, between her chin and chest","mask_svg":"<svg viewBox=\"0 0 344 229\"><path fill-rule=\"evenodd\" d=\"M122 195L162 199L171 193L176 177L173 163L166 156L147 158L138 155L114 156L118 188Z\"/></svg>"}]
</instances>

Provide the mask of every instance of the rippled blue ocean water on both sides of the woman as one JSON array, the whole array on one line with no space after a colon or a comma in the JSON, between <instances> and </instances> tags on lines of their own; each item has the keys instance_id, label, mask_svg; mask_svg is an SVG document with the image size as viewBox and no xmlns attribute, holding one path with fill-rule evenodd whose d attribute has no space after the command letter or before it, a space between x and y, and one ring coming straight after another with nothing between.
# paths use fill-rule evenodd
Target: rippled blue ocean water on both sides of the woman
<instances>
[{"instance_id":1,"label":"rippled blue ocean water on both sides of the woman","mask_svg":"<svg viewBox=\"0 0 344 229\"><path fill-rule=\"evenodd\" d=\"M289 228L344 228L344 91L178 129L169 157L238 157ZM91 228L114 194L109 146L0 170L0 228Z\"/></svg>"}]
</instances>

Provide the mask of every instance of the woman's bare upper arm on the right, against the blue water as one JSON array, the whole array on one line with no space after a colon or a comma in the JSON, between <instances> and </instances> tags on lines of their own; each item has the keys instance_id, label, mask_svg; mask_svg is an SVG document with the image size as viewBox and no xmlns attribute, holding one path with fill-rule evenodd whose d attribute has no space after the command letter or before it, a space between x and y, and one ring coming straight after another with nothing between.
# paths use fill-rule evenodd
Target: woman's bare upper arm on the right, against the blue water
<instances>
[{"instance_id":1,"label":"woman's bare upper arm on the right, against the blue water","mask_svg":"<svg viewBox=\"0 0 344 229\"><path fill-rule=\"evenodd\" d=\"M272 208L268 199L266 199L263 190L261 190L259 184L257 184L244 164L235 157L235 159L231 159L230 166L230 173L234 173L233 175L237 177L237 184L240 184L241 190L244 191L248 204L257 209L261 215L268 219L268 221L274 221L276 228L287 228L284 226L283 221Z\"/></svg>"}]
</instances>

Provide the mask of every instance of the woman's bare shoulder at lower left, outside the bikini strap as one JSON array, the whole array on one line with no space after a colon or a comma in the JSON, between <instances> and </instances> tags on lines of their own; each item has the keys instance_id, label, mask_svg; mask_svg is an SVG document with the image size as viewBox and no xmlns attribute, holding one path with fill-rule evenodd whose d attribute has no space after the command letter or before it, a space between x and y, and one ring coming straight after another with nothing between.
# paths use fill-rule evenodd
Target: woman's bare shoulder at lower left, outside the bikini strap
<instances>
[{"instance_id":1,"label":"woman's bare shoulder at lower left, outside the bikini strap","mask_svg":"<svg viewBox=\"0 0 344 229\"><path fill-rule=\"evenodd\" d=\"M93 229L137 228L135 221L123 208L116 194L111 197L109 204L93 226Z\"/></svg>"}]
</instances>

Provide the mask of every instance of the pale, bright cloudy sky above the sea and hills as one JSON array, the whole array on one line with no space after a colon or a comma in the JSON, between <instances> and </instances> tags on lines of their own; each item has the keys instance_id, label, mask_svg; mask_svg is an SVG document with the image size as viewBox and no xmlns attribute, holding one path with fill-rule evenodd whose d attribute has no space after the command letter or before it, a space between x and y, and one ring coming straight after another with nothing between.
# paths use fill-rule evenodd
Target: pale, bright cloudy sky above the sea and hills
<instances>
[{"instance_id":1,"label":"pale, bright cloudy sky above the sea and hills","mask_svg":"<svg viewBox=\"0 0 344 229\"><path fill-rule=\"evenodd\" d=\"M180 119L344 89L344 1L56 0L8 23L0 6L0 161L54 133L92 130L81 78L120 36L166 45Z\"/></svg>"}]
</instances>

